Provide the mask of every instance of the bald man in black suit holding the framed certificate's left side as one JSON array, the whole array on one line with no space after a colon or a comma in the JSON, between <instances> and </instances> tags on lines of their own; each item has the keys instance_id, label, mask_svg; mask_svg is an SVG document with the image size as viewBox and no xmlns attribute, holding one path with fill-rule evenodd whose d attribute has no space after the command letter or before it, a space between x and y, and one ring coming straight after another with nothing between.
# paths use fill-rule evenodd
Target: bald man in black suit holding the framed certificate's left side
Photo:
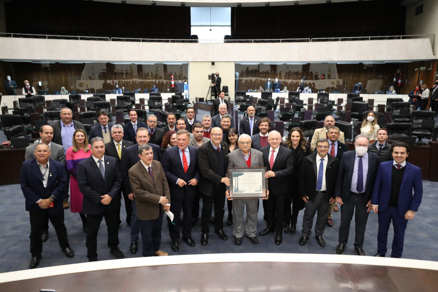
<instances>
[{"instance_id":1,"label":"bald man in black suit holding the framed certificate's left side","mask_svg":"<svg viewBox=\"0 0 438 292\"><path fill-rule=\"evenodd\" d=\"M222 228L225 213L225 186L229 185L229 179L226 177L229 151L228 145L222 141L222 129L214 127L211 132L210 142L198 148L199 191L203 198L201 245L208 243L213 204L215 208L215 233L219 235L221 240L228 239Z\"/></svg>"}]
</instances>

